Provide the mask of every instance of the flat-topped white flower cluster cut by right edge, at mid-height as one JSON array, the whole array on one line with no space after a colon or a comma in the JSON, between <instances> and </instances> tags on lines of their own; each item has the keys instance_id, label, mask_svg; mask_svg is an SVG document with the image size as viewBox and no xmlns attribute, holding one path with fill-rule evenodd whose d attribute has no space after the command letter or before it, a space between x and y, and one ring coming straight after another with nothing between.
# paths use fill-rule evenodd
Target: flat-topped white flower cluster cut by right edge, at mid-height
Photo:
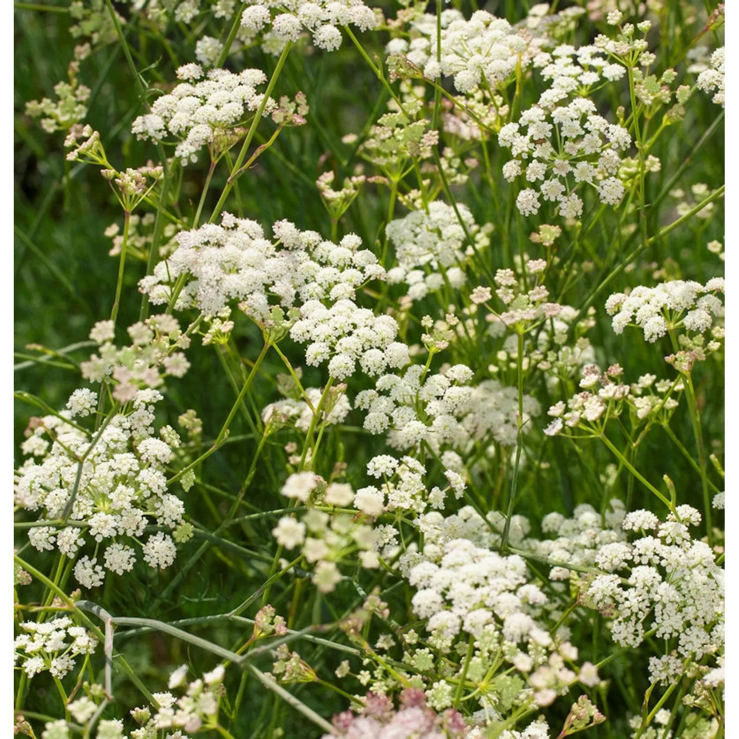
<instances>
[{"instance_id":1,"label":"flat-topped white flower cluster cut by right edge, at mid-height","mask_svg":"<svg viewBox=\"0 0 739 739\"><path fill-rule=\"evenodd\" d=\"M715 317L723 316L723 277L709 279L705 285L692 280L661 282L655 287L638 285L631 292L613 293L605 310L613 316L613 331L621 334L624 328L636 324L644 331L644 338L654 343L668 331L684 328L690 333L704 334L714 324Z\"/></svg>"}]
</instances>

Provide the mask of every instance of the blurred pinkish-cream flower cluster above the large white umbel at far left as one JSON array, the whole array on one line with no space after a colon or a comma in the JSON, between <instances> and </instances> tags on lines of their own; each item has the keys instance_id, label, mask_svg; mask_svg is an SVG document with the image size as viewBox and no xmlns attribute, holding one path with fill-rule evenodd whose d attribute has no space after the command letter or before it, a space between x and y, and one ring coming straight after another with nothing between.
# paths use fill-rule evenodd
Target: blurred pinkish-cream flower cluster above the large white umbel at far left
<instances>
[{"instance_id":1,"label":"blurred pinkish-cream flower cluster above the large white umbel at far left","mask_svg":"<svg viewBox=\"0 0 739 739\"><path fill-rule=\"evenodd\" d=\"M112 380L112 395L120 403L136 398L145 388L157 388L164 378L183 377L190 362L179 349L188 349L190 337L182 332L180 323L168 313L151 316L128 328L132 344L120 349L113 344L115 324L98 321L90 338L98 344L98 353L81 362L82 376L90 382Z\"/></svg>"}]
</instances>

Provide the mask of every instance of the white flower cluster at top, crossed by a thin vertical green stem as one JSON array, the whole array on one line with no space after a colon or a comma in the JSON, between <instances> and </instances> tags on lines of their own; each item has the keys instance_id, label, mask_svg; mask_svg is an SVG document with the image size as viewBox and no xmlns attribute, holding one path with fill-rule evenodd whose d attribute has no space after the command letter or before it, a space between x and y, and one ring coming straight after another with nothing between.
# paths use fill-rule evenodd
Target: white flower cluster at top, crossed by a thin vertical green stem
<instances>
[{"instance_id":1,"label":"white flower cluster at top, crossed by a thin vertical green stem","mask_svg":"<svg viewBox=\"0 0 739 739\"><path fill-rule=\"evenodd\" d=\"M409 61L429 79L454 75L454 87L462 94L474 93L480 86L499 88L510 81L517 65L522 69L531 61L531 35L477 10L465 20L459 10L441 13L441 60L437 61L436 16L425 14L413 24L422 35L406 41L389 42L389 53L406 53Z\"/></svg>"}]
</instances>

